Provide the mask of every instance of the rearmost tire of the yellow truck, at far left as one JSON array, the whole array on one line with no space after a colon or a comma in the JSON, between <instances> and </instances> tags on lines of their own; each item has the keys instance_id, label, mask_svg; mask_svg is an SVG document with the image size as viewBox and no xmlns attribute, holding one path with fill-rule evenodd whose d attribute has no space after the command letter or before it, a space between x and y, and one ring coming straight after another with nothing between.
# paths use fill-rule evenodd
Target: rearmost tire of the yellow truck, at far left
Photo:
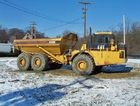
<instances>
[{"instance_id":1,"label":"rearmost tire of the yellow truck, at far left","mask_svg":"<svg viewBox=\"0 0 140 106\"><path fill-rule=\"evenodd\" d=\"M21 53L17 58L17 66L21 71L30 70L31 55L26 53Z\"/></svg>"}]
</instances>

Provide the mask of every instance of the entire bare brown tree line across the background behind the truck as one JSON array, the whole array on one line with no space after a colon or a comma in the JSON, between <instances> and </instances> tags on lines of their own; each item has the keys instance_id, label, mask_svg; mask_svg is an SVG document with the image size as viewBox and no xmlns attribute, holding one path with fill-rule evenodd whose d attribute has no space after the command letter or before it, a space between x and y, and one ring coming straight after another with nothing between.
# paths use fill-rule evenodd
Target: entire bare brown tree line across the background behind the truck
<instances>
[{"instance_id":1,"label":"entire bare brown tree line across the background behind the truck","mask_svg":"<svg viewBox=\"0 0 140 106\"><path fill-rule=\"evenodd\" d=\"M118 42L123 43L123 24L118 24L117 27L111 26L108 31L112 31L117 38ZM7 29L0 26L0 43L6 43L9 41L11 36L15 36L16 39L22 39L26 33L29 33L30 29L22 30L18 28ZM71 32L70 30L65 30L62 32L62 35ZM88 31L87 31L88 32ZM45 34L39 31L36 31L37 38L44 38ZM87 34L89 35L89 34ZM56 35L56 37L61 37ZM87 36L88 38L88 36ZM127 45L127 54L128 55L140 55L140 22L131 22L130 20L126 21L126 45ZM94 36L93 36L94 39ZM83 37L79 37L79 40L76 45L76 49L80 49L82 43L84 42Z\"/></svg>"}]
</instances>

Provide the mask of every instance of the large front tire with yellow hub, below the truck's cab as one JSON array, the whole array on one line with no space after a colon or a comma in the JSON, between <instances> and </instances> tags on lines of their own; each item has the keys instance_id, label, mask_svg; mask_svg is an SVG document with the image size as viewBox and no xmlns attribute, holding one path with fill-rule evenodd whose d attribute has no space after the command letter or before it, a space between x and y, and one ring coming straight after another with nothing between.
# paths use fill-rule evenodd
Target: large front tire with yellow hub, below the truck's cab
<instances>
[{"instance_id":1,"label":"large front tire with yellow hub, below the truck's cab","mask_svg":"<svg viewBox=\"0 0 140 106\"><path fill-rule=\"evenodd\" d=\"M94 60L86 54L78 55L72 62L72 69L77 74L90 75L95 69Z\"/></svg>"}]
</instances>

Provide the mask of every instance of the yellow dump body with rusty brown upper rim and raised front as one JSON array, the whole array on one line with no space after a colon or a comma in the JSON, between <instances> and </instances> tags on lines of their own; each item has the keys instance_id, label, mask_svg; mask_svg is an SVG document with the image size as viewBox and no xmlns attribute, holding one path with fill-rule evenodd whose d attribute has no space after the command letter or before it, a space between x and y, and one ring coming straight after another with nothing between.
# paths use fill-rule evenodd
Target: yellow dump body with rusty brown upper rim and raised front
<instances>
[{"instance_id":1,"label":"yellow dump body with rusty brown upper rim and raised front","mask_svg":"<svg viewBox=\"0 0 140 106\"><path fill-rule=\"evenodd\" d=\"M69 33L62 38L43 38L43 39L20 39L14 40L13 45L16 49L24 53L44 53L39 47L53 55L62 55L72 49L77 43L76 34Z\"/></svg>"}]
</instances>

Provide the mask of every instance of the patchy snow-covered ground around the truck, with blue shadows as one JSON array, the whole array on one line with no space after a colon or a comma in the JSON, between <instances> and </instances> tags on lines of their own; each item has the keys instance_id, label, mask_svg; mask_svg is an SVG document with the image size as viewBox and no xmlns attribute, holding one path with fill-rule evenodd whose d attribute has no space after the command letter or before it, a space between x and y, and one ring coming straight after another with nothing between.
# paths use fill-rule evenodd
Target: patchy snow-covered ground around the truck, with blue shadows
<instances>
[{"instance_id":1,"label":"patchy snow-covered ground around the truck, with blue shadows","mask_svg":"<svg viewBox=\"0 0 140 106\"><path fill-rule=\"evenodd\" d=\"M140 60L103 71L133 71ZM16 58L0 58L0 106L140 106L140 77L98 79L17 72Z\"/></svg>"}]
</instances>

